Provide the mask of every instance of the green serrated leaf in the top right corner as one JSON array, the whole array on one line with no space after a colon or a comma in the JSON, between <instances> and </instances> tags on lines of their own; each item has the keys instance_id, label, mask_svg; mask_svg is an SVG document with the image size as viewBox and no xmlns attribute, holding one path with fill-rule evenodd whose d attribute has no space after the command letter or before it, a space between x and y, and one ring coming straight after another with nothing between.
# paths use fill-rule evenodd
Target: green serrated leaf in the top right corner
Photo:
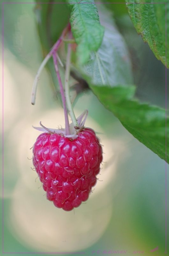
<instances>
[{"instance_id":1,"label":"green serrated leaf in the top right corner","mask_svg":"<svg viewBox=\"0 0 169 256\"><path fill-rule=\"evenodd\" d=\"M169 68L169 1L158 2L126 0L129 16L137 32L149 44L156 58Z\"/></svg>"}]
</instances>

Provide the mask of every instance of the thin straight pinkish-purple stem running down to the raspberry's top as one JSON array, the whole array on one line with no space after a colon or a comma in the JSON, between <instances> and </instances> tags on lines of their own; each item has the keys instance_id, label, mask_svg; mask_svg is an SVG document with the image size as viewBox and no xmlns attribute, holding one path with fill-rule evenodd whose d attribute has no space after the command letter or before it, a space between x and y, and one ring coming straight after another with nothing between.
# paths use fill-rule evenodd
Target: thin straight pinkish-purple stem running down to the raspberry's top
<instances>
[{"instance_id":1,"label":"thin straight pinkish-purple stem running down to the raspberry's top","mask_svg":"<svg viewBox=\"0 0 169 256\"><path fill-rule=\"evenodd\" d=\"M63 110L64 110L64 118L65 118L66 135L70 135L69 118L68 118L68 112L67 112L67 108L66 108L66 99L65 99L65 95L64 95L61 76L59 73L56 52L53 52L53 60L54 60L55 71L56 71L56 75L57 75L57 79L58 79L58 83L59 83L59 87L60 87L60 92L61 92L61 98L62 98L62 104L63 104Z\"/></svg>"}]
</instances>

